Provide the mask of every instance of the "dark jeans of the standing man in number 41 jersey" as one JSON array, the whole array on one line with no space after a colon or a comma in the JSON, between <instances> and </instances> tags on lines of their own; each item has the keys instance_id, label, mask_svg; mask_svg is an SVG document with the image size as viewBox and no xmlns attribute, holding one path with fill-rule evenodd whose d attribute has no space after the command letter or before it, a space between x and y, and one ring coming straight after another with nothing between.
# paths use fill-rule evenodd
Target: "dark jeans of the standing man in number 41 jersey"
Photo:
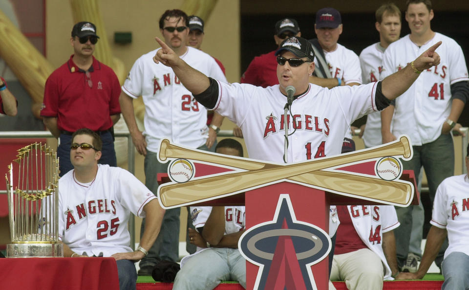
<instances>
[{"instance_id":1,"label":"dark jeans of the standing man in number 41 jersey","mask_svg":"<svg viewBox=\"0 0 469 290\"><path fill-rule=\"evenodd\" d=\"M436 189L443 179L454 175L454 147L453 139L449 134L440 135L435 141L423 144L422 146L412 146L414 156L409 161L402 161L404 169L413 170L415 177L419 179L420 168L423 166L428 180L430 200L433 204ZM419 180L416 180L417 183ZM396 206L397 218L401 225L394 229L396 237L396 255L399 266L402 266L407 259L409 252L410 233L412 231L412 210L418 205L408 207ZM431 208L426 210L431 211ZM414 229L416 230L416 229ZM422 230L422 229L420 229ZM440 253L435 259L437 266L441 264L443 255L448 247L448 239L442 245ZM439 263L438 263L439 259Z\"/></svg>"}]
</instances>

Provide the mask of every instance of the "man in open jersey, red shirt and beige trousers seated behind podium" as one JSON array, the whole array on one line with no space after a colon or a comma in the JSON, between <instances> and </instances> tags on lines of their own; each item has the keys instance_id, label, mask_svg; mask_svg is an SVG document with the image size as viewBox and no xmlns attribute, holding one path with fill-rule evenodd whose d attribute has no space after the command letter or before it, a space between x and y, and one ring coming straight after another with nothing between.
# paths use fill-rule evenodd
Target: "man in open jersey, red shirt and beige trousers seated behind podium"
<instances>
[{"instance_id":1,"label":"man in open jersey, red shirt and beige trousers seated behind podium","mask_svg":"<svg viewBox=\"0 0 469 290\"><path fill-rule=\"evenodd\" d=\"M341 224L331 280L345 281L349 290L381 290L383 280L399 279L392 231L399 222L394 206L338 205L337 213ZM335 290L332 283L329 290Z\"/></svg>"}]
</instances>

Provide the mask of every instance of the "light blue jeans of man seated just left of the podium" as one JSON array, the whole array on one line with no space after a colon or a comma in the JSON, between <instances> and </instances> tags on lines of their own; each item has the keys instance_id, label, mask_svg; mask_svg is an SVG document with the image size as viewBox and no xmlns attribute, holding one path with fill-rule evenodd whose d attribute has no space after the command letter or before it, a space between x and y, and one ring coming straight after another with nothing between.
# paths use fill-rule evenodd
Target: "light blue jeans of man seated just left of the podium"
<instances>
[{"instance_id":1,"label":"light blue jeans of man seated just left of the podium","mask_svg":"<svg viewBox=\"0 0 469 290\"><path fill-rule=\"evenodd\" d=\"M246 260L238 249L210 248L184 264L173 290L212 290L221 281L238 281L246 289Z\"/></svg>"}]
</instances>

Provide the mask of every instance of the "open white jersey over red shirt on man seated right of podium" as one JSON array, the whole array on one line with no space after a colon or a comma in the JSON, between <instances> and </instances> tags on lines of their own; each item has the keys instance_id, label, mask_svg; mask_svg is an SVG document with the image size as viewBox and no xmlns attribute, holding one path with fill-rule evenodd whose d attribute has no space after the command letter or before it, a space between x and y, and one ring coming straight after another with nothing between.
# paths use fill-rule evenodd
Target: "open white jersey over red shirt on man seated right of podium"
<instances>
[{"instance_id":1,"label":"open white jersey over red shirt on man seated right of podium","mask_svg":"<svg viewBox=\"0 0 469 290\"><path fill-rule=\"evenodd\" d=\"M391 269L383 252L383 233L400 225L392 205L347 205L353 227L370 250L383 262L384 280L392 280Z\"/></svg>"}]
</instances>

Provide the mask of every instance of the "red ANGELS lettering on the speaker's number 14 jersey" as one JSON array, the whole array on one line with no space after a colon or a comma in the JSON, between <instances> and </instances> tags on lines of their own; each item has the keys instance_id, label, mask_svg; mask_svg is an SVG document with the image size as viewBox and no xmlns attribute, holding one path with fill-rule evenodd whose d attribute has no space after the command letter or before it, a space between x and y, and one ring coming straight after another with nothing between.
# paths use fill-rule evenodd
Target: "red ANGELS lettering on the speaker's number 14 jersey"
<instances>
[{"instance_id":1,"label":"red ANGELS lettering on the speaker's number 14 jersey","mask_svg":"<svg viewBox=\"0 0 469 290\"><path fill-rule=\"evenodd\" d=\"M267 122L265 123L264 138L269 134L277 133L277 131L284 131L284 116L285 115L282 114L279 118L279 122L277 123L275 121L278 118L274 116L273 113L270 113L270 115L265 117ZM292 119L293 122L291 122ZM287 124L288 129L312 131L322 133L326 136L328 136L330 132L330 121L328 118L321 118L308 114L295 114L293 115L293 118L291 118L291 115L287 115Z\"/></svg>"}]
</instances>

